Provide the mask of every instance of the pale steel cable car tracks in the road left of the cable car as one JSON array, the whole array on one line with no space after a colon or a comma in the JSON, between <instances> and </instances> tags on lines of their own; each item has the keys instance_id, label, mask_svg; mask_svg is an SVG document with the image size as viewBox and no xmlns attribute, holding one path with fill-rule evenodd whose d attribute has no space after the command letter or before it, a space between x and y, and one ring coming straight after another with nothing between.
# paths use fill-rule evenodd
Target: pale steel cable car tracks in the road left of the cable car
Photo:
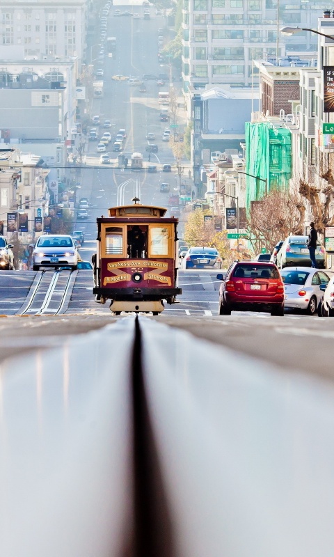
<instances>
[{"instance_id":1,"label":"pale steel cable car tracks in the road left of the cable car","mask_svg":"<svg viewBox=\"0 0 334 557\"><path fill-rule=\"evenodd\" d=\"M56 269L52 274L42 270L33 285L33 292L28 303L17 315L43 315L45 313L57 315L61 313L76 275L76 272L67 269Z\"/></svg>"}]
</instances>

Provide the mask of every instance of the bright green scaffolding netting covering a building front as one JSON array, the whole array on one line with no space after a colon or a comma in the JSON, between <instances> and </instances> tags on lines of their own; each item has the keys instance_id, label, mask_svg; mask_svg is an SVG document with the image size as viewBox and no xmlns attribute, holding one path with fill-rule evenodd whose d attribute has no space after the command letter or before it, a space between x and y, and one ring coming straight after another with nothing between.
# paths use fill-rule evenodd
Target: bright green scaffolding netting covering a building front
<instances>
[{"instance_id":1,"label":"bright green scaffolding netting covering a building front","mask_svg":"<svg viewBox=\"0 0 334 557\"><path fill-rule=\"evenodd\" d=\"M291 132L271 123L246 122L246 207L273 189L289 189L291 178ZM267 184L263 181L267 180ZM267 189L267 191L266 191Z\"/></svg>"}]
</instances>

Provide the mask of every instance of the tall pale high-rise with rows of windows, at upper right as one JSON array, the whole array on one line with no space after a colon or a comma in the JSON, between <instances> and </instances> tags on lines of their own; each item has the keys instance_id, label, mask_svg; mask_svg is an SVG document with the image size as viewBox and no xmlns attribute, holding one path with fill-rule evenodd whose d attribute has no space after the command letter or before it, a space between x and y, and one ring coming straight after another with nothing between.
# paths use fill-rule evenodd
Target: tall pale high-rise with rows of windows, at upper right
<instances>
[{"instance_id":1,"label":"tall pale high-rise with rows of windows, at upper right","mask_svg":"<svg viewBox=\"0 0 334 557\"><path fill-rule=\"evenodd\" d=\"M285 56L286 52L316 50L317 40L303 31L277 40L283 25L312 27L322 3L296 0L184 0L182 23L182 74L184 91L207 84L250 86L256 79L253 60Z\"/></svg>"}]
</instances>

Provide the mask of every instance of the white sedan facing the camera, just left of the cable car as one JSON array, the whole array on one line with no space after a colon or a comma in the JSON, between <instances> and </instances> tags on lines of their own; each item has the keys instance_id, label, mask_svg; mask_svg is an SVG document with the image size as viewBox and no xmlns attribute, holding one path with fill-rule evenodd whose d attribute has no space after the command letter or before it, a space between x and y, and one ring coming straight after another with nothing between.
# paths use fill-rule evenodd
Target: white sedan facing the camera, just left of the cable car
<instances>
[{"instance_id":1,"label":"white sedan facing the camera, just left of the cable car","mask_svg":"<svg viewBox=\"0 0 334 557\"><path fill-rule=\"evenodd\" d=\"M78 251L70 235L42 235L33 247L33 270L70 266L77 269Z\"/></svg>"}]
</instances>

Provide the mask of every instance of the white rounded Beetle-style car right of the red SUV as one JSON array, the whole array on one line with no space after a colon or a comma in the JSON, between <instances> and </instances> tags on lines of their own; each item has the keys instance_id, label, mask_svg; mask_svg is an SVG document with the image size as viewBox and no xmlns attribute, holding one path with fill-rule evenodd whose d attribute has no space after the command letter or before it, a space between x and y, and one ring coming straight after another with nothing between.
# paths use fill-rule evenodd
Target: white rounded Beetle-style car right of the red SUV
<instances>
[{"instance_id":1,"label":"white rounded Beetle-style car right of the red SUV","mask_svg":"<svg viewBox=\"0 0 334 557\"><path fill-rule=\"evenodd\" d=\"M310 267L286 267L280 276L284 283L285 307L315 315L323 297L320 286L328 285L330 281L328 274Z\"/></svg>"}]
</instances>

